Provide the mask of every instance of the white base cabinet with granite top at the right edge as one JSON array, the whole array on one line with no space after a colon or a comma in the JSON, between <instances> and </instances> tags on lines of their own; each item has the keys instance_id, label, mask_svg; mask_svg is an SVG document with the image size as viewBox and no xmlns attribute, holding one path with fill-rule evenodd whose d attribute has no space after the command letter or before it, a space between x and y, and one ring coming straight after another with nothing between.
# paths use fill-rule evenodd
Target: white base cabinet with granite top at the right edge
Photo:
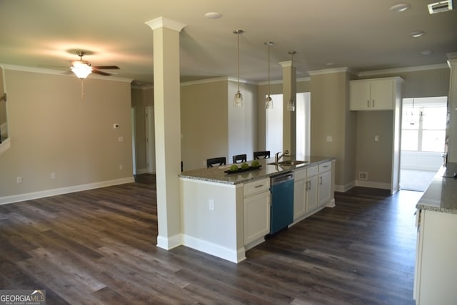
<instances>
[{"instance_id":1,"label":"white base cabinet with granite top at the right edge","mask_svg":"<svg viewBox=\"0 0 457 305\"><path fill-rule=\"evenodd\" d=\"M457 163L441 167L416 205L416 304L456 304Z\"/></svg>"}]
</instances>

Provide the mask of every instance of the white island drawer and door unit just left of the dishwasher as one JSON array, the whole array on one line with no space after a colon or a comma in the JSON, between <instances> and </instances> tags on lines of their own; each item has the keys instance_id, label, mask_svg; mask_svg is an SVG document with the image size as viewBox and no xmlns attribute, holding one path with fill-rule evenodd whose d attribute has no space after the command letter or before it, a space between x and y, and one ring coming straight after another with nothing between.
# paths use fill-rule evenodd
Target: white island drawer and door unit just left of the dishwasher
<instances>
[{"instance_id":1,"label":"white island drawer and door unit just left of the dishwasher","mask_svg":"<svg viewBox=\"0 0 457 305\"><path fill-rule=\"evenodd\" d=\"M243 198L244 244L250 249L270 232L270 179L246 183Z\"/></svg>"}]
</instances>

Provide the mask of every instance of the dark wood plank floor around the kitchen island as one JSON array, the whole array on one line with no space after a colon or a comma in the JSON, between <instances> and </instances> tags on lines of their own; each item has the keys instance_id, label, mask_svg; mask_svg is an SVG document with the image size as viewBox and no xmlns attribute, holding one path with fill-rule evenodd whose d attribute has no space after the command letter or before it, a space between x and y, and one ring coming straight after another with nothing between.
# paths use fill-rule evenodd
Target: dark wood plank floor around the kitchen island
<instances>
[{"instance_id":1,"label":"dark wood plank floor around the kitchen island","mask_svg":"<svg viewBox=\"0 0 457 305\"><path fill-rule=\"evenodd\" d=\"M420 193L354 188L233 264L155 247L155 179L0 206L0 289L47 304L413 304Z\"/></svg>"}]
</instances>

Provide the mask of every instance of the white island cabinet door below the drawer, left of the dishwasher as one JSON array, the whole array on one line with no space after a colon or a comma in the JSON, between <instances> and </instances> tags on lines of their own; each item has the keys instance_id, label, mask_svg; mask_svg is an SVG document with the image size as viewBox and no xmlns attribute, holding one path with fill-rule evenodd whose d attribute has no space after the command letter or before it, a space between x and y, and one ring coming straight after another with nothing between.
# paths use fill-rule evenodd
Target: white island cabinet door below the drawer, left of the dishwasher
<instances>
[{"instance_id":1,"label":"white island cabinet door below the drawer, left of the dishwasher","mask_svg":"<svg viewBox=\"0 0 457 305\"><path fill-rule=\"evenodd\" d=\"M244 198L244 244L256 242L270 232L270 192Z\"/></svg>"}]
</instances>

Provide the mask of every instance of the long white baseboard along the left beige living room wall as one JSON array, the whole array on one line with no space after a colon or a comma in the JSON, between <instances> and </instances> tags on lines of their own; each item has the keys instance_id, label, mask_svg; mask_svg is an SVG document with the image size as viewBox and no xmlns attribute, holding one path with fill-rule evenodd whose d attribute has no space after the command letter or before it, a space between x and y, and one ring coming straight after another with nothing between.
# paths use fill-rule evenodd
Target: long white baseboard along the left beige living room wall
<instances>
[{"instance_id":1,"label":"long white baseboard along the left beige living room wall","mask_svg":"<svg viewBox=\"0 0 457 305\"><path fill-rule=\"evenodd\" d=\"M71 187L61 187L58 189L42 190L39 192L29 192L29 193L19 194L19 195L5 196L5 197L0 197L0 205L5 205L7 203L13 203L13 202L20 202L20 201L25 201L25 200L34 200L34 199L38 199L38 198L55 196L55 195L68 194L71 192L80 192L83 190L93 190L93 189L97 189L100 187L111 187L112 185L124 185L125 183L131 183L131 182L135 182L134 177L101 181L101 182L89 183L86 185L74 185Z\"/></svg>"}]
</instances>

